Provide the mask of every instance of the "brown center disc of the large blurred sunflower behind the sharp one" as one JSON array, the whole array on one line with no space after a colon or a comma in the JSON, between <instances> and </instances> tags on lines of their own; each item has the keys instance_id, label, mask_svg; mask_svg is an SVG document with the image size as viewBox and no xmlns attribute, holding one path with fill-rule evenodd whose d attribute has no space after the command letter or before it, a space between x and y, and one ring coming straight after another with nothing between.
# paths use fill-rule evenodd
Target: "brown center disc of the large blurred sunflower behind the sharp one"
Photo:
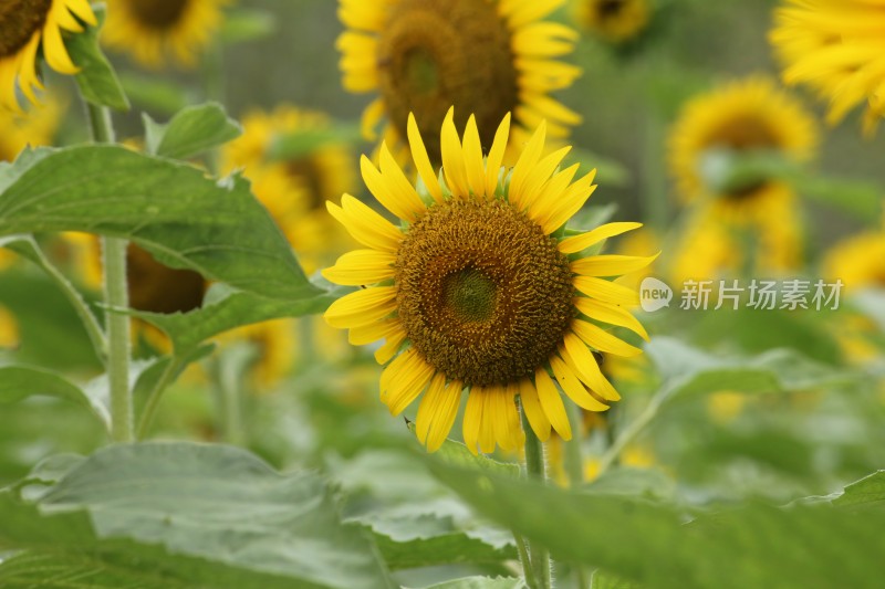
<instances>
[{"instance_id":1,"label":"brown center disc of the large blurred sunflower behind the sharp one","mask_svg":"<svg viewBox=\"0 0 885 589\"><path fill-rule=\"evenodd\" d=\"M391 123L406 136L415 118L430 159L440 161L439 128L454 105L461 127L477 117L491 146L504 114L518 104L511 33L497 2L400 0L389 9L379 38L381 92ZM431 139L435 138L435 139Z\"/></svg>"}]
</instances>

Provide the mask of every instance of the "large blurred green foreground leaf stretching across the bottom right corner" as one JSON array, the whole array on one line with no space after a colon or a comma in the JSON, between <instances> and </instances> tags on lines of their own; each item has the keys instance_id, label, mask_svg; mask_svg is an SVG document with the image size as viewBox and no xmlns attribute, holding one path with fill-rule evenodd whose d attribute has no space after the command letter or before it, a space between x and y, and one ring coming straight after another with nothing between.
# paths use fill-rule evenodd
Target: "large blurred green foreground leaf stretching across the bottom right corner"
<instances>
[{"instance_id":1,"label":"large blurred green foreground leaf stretching across the bottom right corner","mask_svg":"<svg viewBox=\"0 0 885 589\"><path fill-rule=\"evenodd\" d=\"M829 504L746 505L686 524L679 509L513 481L429 460L480 513L549 547L647 588L875 588L885 513Z\"/></svg>"}]
</instances>

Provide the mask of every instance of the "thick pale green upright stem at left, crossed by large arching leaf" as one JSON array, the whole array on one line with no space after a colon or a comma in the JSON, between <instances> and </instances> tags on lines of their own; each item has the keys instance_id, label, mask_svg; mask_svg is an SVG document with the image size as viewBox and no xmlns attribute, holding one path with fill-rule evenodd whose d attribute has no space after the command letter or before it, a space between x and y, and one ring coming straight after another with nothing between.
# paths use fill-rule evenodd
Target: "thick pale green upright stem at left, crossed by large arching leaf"
<instances>
[{"instance_id":1,"label":"thick pale green upright stem at left, crossed by large arching leaf","mask_svg":"<svg viewBox=\"0 0 885 589\"><path fill-rule=\"evenodd\" d=\"M96 144L113 144L114 124L105 106L86 103L92 139ZM104 262L104 301L107 305L107 381L111 387L111 438L115 442L132 442L134 416L129 390L129 318L119 313L129 306L126 285L126 240L102 238Z\"/></svg>"}]
</instances>

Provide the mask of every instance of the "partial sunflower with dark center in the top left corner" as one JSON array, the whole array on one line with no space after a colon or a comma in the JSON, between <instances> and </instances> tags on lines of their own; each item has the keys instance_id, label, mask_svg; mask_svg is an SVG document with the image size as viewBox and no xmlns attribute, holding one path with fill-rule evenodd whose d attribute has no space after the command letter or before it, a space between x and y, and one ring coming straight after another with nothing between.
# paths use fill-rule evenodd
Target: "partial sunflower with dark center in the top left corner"
<instances>
[{"instance_id":1,"label":"partial sunflower with dark center in the top left corner","mask_svg":"<svg viewBox=\"0 0 885 589\"><path fill-rule=\"evenodd\" d=\"M77 20L80 19L80 20ZM82 22L95 25L88 0L6 0L0 6L0 107L21 111L15 86L32 103L38 75L38 51L61 74L79 72L62 41L62 31L83 32Z\"/></svg>"}]
</instances>

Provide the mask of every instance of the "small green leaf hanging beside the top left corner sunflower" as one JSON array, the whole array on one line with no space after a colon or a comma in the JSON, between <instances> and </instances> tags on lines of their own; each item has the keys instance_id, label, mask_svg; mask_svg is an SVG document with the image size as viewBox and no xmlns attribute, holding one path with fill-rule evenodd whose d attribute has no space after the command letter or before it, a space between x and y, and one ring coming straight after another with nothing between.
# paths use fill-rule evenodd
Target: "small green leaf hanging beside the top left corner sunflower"
<instances>
[{"instance_id":1,"label":"small green leaf hanging beside the top left corner sunflower","mask_svg":"<svg viewBox=\"0 0 885 589\"><path fill-rule=\"evenodd\" d=\"M65 35L64 45L73 62L80 67L76 83L80 93L90 103L128 111L129 99L123 92L116 72L98 45L98 31L104 23L105 9L93 7L97 27L87 27L83 33Z\"/></svg>"}]
</instances>

